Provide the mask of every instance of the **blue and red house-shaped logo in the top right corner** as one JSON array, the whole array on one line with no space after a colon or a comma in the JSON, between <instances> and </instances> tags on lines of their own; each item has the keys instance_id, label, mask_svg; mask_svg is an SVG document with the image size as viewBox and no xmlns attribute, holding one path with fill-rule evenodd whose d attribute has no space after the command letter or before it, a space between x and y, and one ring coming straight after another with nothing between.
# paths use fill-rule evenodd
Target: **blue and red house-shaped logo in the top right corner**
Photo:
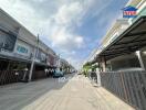
<instances>
[{"instance_id":1,"label":"blue and red house-shaped logo in the top right corner","mask_svg":"<svg viewBox=\"0 0 146 110\"><path fill-rule=\"evenodd\" d=\"M137 16L137 9L135 7L128 6L123 8L123 18L136 18Z\"/></svg>"}]
</instances>

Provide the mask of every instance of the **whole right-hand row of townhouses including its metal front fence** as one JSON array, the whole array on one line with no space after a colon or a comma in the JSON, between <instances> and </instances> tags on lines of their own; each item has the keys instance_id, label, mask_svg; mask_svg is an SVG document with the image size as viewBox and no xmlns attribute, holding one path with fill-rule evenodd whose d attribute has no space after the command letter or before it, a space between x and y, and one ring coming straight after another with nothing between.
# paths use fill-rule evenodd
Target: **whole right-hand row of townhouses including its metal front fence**
<instances>
[{"instance_id":1,"label":"whole right-hand row of townhouses including its metal front fence","mask_svg":"<svg viewBox=\"0 0 146 110\"><path fill-rule=\"evenodd\" d=\"M146 0L129 0L127 7L136 8L136 16L116 20L84 66L96 67L101 86L146 110Z\"/></svg>"}]
</instances>

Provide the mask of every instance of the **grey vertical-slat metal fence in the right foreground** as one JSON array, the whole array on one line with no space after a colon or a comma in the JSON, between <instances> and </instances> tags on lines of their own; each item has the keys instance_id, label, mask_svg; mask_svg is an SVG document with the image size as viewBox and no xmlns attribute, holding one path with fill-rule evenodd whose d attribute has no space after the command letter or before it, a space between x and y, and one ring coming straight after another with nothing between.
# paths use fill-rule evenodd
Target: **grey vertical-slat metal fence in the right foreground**
<instances>
[{"instance_id":1,"label":"grey vertical-slat metal fence in the right foreground","mask_svg":"<svg viewBox=\"0 0 146 110\"><path fill-rule=\"evenodd\" d=\"M146 110L146 72L101 73L101 82L104 88L137 110Z\"/></svg>"}]
</instances>

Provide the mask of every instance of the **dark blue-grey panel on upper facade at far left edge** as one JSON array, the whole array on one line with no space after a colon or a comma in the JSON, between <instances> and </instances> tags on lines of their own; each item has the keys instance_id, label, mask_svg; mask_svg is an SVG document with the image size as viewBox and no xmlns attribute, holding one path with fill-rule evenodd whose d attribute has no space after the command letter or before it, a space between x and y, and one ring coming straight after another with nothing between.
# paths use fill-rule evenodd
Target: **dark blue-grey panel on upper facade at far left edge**
<instances>
[{"instance_id":1,"label":"dark blue-grey panel on upper facade at far left edge","mask_svg":"<svg viewBox=\"0 0 146 110\"><path fill-rule=\"evenodd\" d=\"M0 50L12 52L17 36L0 30Z\"/></svg>"}]
</instances>

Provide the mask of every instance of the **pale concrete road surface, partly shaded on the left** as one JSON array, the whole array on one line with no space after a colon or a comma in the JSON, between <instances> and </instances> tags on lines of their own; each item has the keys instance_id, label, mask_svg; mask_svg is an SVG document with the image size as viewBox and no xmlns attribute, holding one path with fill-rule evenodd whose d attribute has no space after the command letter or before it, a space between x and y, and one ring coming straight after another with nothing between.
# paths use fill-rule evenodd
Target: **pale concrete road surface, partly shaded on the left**
<instances>
[{"instance_id":1,"label":"pale concrete road surface, partly shaded on the left","mask_svg":"<svg viewBox=\"0 0 146 110\"><path fill-rule=\"evenodd\" d=\"M0 87L0 110L134 110L82 75Z\"/></svg>"}]
</instances>

